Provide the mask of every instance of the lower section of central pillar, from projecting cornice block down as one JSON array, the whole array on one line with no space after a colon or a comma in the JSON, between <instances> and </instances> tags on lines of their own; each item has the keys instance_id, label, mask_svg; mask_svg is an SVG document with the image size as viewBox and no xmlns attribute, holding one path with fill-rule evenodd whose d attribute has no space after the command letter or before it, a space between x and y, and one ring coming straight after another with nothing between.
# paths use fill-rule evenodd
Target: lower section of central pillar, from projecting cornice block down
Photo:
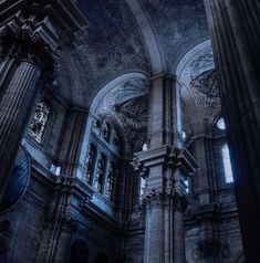
<instances>
[{"instance_id":1,"label":"lower section of central pillar, from projecting cornice block down","mask_svg":"<svg viewBox=\"0 0 260 263\"><path fill-rule=\"evenodd\" d=\"M197 167L195 159L186 149L166 145L136 154L133 165L147 172L145 263L185 262L185 181Z\"/></svg>"}]
</instances>

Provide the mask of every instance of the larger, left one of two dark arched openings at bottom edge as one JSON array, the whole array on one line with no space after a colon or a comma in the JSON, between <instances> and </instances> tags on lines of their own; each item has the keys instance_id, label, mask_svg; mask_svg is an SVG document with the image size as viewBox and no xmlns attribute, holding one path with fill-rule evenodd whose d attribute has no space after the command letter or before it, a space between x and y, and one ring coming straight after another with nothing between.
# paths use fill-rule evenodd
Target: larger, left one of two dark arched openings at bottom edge
<instances>
[{"instance_id":1,"label":"larger, left one of two dark arched openings at bottom edge","mask_svg":"<svg viewBox=\"0 0 260 263\"><path fill-rule=\"evenodd\" d=\"M70 263L87 263L89 249L83 240L76 240L71 248Z\"/></svg>"}]
</instances>

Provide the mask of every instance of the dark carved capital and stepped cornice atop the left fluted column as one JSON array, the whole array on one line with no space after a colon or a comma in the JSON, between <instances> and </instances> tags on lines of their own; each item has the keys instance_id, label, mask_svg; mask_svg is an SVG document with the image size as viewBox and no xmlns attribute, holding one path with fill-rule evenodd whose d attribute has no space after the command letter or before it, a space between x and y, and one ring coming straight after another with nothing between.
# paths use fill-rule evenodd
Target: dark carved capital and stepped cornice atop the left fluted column
<instances>
[{"instance_id":1,"label":"dark carved capital and stepped cornice atop the left fluted column","mask_svg":"<svg viewBox=\"0 0 260 263\"><path fill-rule=\"evenodd\" d=\"M58 59L63 35L72 35L87 21L73 1L0 2L0 59L7 57L34 64L44 83L56 77ZM70 14L70 15L69 15Z\"/></svg>"}]
</instances>

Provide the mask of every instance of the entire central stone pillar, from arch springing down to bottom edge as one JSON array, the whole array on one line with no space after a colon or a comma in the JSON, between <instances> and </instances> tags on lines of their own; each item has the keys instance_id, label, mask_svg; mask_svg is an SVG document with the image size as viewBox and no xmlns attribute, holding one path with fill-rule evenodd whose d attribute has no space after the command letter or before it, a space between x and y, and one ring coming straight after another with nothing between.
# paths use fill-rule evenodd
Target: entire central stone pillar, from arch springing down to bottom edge
<instances>
[{"instance_id":1,"label":"entire central stone pillar, from arch springing down to bottom edge","mask_svg":"<svg viewBox=\"0 0 260 263\"><path fill-rule=\"evenodd\" d=\"M196 161L183 148L179 91L170 75L152 78L148 150L137 152L133 165L148 173L144 193L146 212L145 263L184 263L185 180ZM179 209L179 208L183 209Z\"/></svg>"}]
</instances>

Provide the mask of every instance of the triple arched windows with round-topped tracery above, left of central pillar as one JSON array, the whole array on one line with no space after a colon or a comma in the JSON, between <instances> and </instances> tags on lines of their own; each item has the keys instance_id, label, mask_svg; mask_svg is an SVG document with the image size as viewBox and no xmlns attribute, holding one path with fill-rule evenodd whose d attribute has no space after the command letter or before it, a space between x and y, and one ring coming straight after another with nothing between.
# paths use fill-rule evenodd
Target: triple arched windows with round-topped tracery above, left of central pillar
<instances>
[{"instance_id":1,"label":"triple arched windows with round-topped tracery above, left of central pillar","mask_svg":"<svg viewBox=\"0 0 260 263\"><path fill-rule=\"evenodd\" d=\"M93 125L83 180L114 202L121 144L112 123L106 119L98 123Z\"/></svg>"}]
</instances>

